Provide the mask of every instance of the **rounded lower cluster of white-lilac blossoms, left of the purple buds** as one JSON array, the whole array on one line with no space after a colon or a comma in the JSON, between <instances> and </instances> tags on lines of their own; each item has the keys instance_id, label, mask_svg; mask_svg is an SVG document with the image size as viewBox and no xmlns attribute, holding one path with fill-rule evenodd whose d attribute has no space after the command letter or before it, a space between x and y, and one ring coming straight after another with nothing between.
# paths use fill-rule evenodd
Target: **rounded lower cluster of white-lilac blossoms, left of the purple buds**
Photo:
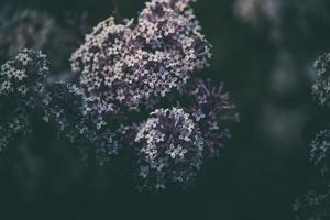
<instances>
[{"instance_id":1,"label":"rounded lower cluster of white-lilac blossoms, left of the purple buds","mask_svg":"<svg viewBox=\"0 0 330 220\"><path fill-rule=\"evenodd\" d=\"M141 188L158 190L170 183L190 184L202 163L204 139L183 109L158 109L140 128Z\"/></svg>"}]
</instances>

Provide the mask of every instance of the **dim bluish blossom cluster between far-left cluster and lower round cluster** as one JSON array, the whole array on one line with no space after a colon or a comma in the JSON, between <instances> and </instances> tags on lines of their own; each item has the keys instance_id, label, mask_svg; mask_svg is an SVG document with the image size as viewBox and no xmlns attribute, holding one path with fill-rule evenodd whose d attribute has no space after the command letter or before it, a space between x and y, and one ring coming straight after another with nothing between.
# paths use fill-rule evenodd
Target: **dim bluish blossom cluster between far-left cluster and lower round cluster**
<instances>
[{"instance_id":1,"label":"dim bluish blossom cluster between far-left cluster and lower round cluster","mask_svg":"<svg viewBox=\"0 0 330 220\"><path fill-rule=\"evenodd\" d=\"M106 124L99 113L99 102L91 103L74 84L52 85L45 92L43 103L43 119L54 123L58 138L75 144L84 160L92 155L102 165L110 156L118 154L125 143L124 136L130 127L123 125L118 114L108 116Z\"/></svg>"}]
</instances>

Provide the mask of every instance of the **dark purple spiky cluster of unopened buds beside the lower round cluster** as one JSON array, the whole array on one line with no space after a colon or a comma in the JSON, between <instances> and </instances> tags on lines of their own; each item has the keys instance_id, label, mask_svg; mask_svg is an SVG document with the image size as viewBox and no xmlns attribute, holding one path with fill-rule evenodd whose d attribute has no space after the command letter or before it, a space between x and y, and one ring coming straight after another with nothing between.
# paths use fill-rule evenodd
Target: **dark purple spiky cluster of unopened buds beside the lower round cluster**
<instances>
[{"instance_id":1,"label":"dark purple spiky cluster of unopened buds beside the lower round cluster","mask_svg":"<svg viewBox=\"0 0 330 220\"><path fill-rule=\"evenodd\" d=\"M188 111L202 131L207 153L218 156L223 141L230 138L228 125L239 121L235 106L230 103L223 84L215 87L210 80L196 79L184 94L186 100L191 99Z\"/></svg>"}]
</instances>

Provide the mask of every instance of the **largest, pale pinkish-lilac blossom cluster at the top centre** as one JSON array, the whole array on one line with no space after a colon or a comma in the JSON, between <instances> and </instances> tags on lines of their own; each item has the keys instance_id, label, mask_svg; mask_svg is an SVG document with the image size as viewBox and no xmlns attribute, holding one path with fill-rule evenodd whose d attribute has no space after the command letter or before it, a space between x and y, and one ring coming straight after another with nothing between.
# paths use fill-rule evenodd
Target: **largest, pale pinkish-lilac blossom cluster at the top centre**
<instances>
[{"instance_id":1,"label":"largest, pale pinkish-lilac blossom cluster at the top centre","mask_svg":"<svg viewBox=\"0 0 330 220\"><path fill-rule=\"evenodd\" d=\"M99 23L72 56L88 97L150 106L208 65L209 44L187 0L153 0L134 20Z\"/></svg>"}]
</instances>

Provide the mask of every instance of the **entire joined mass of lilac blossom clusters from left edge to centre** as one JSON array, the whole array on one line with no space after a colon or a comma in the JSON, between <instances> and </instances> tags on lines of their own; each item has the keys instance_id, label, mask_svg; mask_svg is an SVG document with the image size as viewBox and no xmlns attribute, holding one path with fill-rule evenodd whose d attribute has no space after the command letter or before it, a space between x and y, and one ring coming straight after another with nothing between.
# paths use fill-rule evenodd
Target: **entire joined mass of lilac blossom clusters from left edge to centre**
<instances>
[{"instance_id":1,"label":"entire joined mass of lilac blossom clusters from left edge to centre","mask_svg":"<svg viewBox=\"0 0 330 220\"><path fill-rule=\"evenodd\" d=\"M1 68L0 97L10 98L0 105L24 105L0 132L16 123L13 131L29 131L37 111L85 160L132 156L141 190L190 185L230 136L227 122L238 121L222 85L193 78L211 56L193 2L152 0L136 21L100 22L72 55L77 77L67 81L48 80L41 53L20 53ZM2 136L0 148L10 139Z\"/></svg>"}]
</instances>

